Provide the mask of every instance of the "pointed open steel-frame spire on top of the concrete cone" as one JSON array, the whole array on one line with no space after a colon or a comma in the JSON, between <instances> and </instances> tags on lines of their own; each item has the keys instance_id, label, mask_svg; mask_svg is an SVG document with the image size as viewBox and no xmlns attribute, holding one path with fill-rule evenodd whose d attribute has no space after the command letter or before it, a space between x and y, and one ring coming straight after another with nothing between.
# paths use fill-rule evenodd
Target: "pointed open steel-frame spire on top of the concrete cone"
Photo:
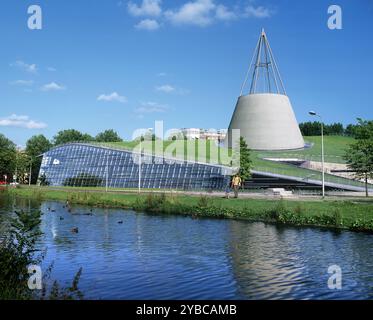
<instances>
[{"instance_id":1,"label":"pointed open steel-frame spire on top of the concrete cone","mask_svg":"<svg viewBox=\"0 0 373 320\"><path fill-rule=\"evenodd\" d=\"M241 87L240 96L242 96L246 88L250 75L251 85L249 94L277 93L286 95L285 87L264 28L260 33L249 70Z\"/></svg>"}]
</instances>

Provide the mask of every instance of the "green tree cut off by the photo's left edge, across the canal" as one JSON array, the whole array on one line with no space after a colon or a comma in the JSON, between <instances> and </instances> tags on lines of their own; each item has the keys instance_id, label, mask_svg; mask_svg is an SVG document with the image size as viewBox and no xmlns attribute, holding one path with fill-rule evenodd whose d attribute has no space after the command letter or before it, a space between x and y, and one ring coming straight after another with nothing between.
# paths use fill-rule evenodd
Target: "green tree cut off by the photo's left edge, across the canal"
<instances>
[{"instance_id":1,"label":"green tree cut off by the photo's left edge, across the canal","mask_svg":"<svg viewBox=\"0 0 373 320\"><path fill-rule=\"evenodd\" d=\"M15 171L16 145L0 133L0 180L8 176L8 182Z\"/></svg>"}]
</instances>

